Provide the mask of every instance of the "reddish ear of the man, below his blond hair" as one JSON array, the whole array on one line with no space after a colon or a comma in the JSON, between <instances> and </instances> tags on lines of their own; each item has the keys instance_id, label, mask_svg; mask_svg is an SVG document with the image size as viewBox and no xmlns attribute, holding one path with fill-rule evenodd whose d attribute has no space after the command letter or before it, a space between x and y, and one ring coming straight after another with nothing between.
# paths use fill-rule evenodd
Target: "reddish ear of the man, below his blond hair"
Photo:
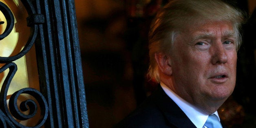
<instances>
[{"instance_id":1,"label":"reddish ear of the man, below his blond hair","mask_svg":"<svg viewBox=\"0 0 256 128\"><path fill-rule=\"evenodd\" d=\"M172 65L170 56L164 53L155 53L154 58L157 61L159 70L165 75L172 75Z\"/></svg>"}]
</instances>

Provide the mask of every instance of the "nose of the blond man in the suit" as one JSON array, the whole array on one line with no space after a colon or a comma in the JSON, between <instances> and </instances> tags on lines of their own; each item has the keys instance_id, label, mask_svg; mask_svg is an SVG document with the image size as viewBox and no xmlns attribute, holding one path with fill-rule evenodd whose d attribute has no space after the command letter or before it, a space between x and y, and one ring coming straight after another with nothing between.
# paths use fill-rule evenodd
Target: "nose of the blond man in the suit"
<instances>
[{"instance_id":1,"label":"nose of the blond man in the suit","mask_svg":"<svg viewBox=\"0 0 256 128\"><path fill-rule=\"evenodd\" d=\"M212 64L225 64L227 62L227 54L223 44L213 46Z\"/></svg>"}]
</instances>

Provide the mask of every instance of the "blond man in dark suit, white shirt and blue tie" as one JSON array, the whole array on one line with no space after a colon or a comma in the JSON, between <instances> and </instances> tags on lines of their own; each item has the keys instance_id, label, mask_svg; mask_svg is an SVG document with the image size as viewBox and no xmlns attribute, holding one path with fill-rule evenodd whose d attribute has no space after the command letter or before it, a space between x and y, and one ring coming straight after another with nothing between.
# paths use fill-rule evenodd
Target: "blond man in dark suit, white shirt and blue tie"
<instances>
[{"instance_id":1,"label":"blond man in dark suit, white shirt and blue tie","mask_svg":"<svg viewBox=\"0 0 256 128\"><path fill-rule=\"evenodd\" d=\"M120 128L212 128L208 117L236 84L243 13L219 0L172 0L149 32L149 76L159 88ZM223 126L213 126L221 128Z\"/></svg>"}]
</instances>

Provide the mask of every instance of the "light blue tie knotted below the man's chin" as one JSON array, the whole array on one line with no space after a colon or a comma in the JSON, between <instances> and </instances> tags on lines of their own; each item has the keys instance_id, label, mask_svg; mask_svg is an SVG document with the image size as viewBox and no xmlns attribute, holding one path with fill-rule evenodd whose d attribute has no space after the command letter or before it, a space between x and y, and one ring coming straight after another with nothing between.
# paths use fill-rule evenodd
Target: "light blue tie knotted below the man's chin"
<instances>
[{"instance_id":1,"label":"light blue tie knotted below the man's chin","mask_svg":"<svg viewBox=\"0 0 256 128\"><path fill-rule=\"evenodd\" d=\"M209 115L205 122L205 126L207 128L222 128L221 122L218 120L218 117L215 114Z\"/></svg>"}]
</instances>

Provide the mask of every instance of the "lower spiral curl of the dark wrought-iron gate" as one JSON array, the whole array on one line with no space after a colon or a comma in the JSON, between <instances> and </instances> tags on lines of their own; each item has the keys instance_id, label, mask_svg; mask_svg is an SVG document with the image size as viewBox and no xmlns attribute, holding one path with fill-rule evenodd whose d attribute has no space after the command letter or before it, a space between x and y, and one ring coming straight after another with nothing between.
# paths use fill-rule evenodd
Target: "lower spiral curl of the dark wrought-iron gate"
<instances>
[{"instance_id":1,"label":"lower spiral curl of the dark wrought-iron gate","mask_svg":"<svg viewBox=\"0 0 256 128\"><path fill-rule=\"evenodd\" d=\"M9 99L9 109L10 109L10 111L9 111L8 106L7 106L7 92L8 92L11 80L17 71L17 66L15 63L5 64L4 66L2 66L0 68L0 73L5 71L7 68L9 68L9 73L7 74L6 79L4 79L4 83L3 83L1 91L0 91L0 108L2 110L2 111L0 111L0 115L7 115L8 118L2 119L2 116L1 116L0 125L6 127L6 124L8 124L9 126L12 126L14 124L16 127L27 128L26 126L23 126L22 124L17 122L13 117L15 117L16 119L19 119L19 120L26 120L26 119L30 119L35 116L38 106L31 99L23 101L20 104L20 110L22 110L22 111L29 110L28 115L24 115L18 109L18 105L17 105L18 96L21 94L29 94L29 95L33 96L38 101L38 103L40 105L41 115L43 116L43 119L41 119L38 122L38 124L34 127L41 127L44 124L44 122L48 116L49 108L48 108L46 99L44 98L42 93L40 93L38 90L36 90L34 88L22 88L21 90L18 90L15 93L13 93L13 95L11 95L11 98ZM6 117L6 116L4 116L4 117ZM8 121L8 119L9 119L9 121Z\"/></svg>"}]
</instances>

